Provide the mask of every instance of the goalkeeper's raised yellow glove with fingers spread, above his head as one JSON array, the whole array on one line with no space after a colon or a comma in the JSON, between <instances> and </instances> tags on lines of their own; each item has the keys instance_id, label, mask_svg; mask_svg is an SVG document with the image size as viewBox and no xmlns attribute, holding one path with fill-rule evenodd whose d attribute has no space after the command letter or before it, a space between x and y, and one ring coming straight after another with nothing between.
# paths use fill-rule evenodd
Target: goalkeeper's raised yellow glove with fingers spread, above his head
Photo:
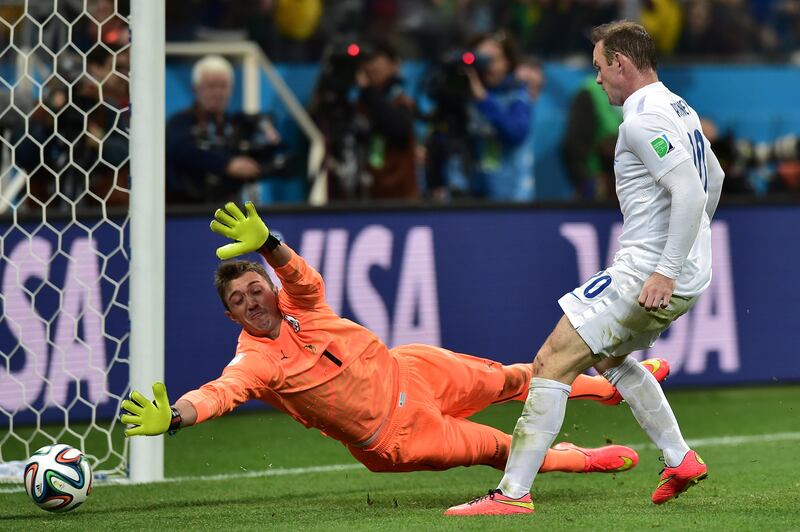
<instances>
[{"instance_id":1,"label":"goalkeeper's raised yellow glove with fingers spread, above his head","mask_svg":"<svg viewBox=\"0 0 800 532\"><path fill-rule=\"evenodd\" d=\"M217 248L217 257L222 260L258 251L269 238L269 229L253 204L248 201L244 208L247 216L233 202L226 203L224 209L217 209L214 213L216 219L211 222L211 230L236 241Z\"/></svg>"}]
</instances>

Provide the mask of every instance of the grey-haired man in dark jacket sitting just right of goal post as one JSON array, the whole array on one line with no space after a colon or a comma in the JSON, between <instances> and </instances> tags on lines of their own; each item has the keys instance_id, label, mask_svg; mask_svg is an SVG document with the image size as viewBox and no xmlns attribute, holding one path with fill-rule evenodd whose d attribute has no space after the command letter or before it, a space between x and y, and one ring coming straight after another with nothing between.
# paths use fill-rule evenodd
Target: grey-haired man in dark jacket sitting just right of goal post
<instances>
[{"instance_id":1,"label":"grey-haired man in dark jacket sitting just right of goal post","mask_svg":"<svg viewBox=\"0 0 800 532\"><path fill-rule=\"evenodd\" d=\"M281 138L263 115L225 111L233 67L207 55L192 69L195 103L167 123L167 203L238 199L242 186L280 166Z\"/></svg>"}]
</instances>

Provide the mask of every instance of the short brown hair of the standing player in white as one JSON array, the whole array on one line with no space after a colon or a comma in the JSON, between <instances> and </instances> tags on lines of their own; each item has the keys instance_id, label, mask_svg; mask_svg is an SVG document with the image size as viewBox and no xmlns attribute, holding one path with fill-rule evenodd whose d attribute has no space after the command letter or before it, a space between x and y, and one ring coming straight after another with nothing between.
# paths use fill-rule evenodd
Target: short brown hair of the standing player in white
<instances>
[{"instance_id":1,"label":"short brown hair of the standing player in white","mask_svg":"<svg viewBox=\"0 0 800 532\"><path fill-rule=\"evenodd\" d=\"M592 29L592 44L603 41L603 56L608 64L619 53L631 60L640 71L655 70L658 62L656 44L644 26L618 20Z\"/></svg>"}]
</instances>

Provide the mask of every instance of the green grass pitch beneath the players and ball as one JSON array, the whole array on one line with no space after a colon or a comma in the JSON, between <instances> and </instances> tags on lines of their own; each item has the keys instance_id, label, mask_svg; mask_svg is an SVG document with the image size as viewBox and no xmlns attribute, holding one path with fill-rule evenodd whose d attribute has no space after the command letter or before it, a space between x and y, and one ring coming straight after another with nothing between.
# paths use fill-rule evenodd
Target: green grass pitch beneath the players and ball
<instances>
[{"instance_id":1,"label":"green grass pitch beneath the players and ball","mask_svg":"<svg viewBox=\"0 0 800 532\"><path fill-rule=\"evenodd\" d=\"M645 445L624 404L570 402L558 441L638 444L636 469L541 475L534 515L477 518L442 511L494 487L498 471L370 473L317 431L279 413L251 411L167 438L169 482L98 485L82 507L63 515L38 509L24 493L0 493L0 529L800 529L800 386L668 395L684 435L698 441L709 478L663 506L650 502L659 452ZM510 431L520 405L499 405L475 419Z\"/></svg>"}]
</instances>

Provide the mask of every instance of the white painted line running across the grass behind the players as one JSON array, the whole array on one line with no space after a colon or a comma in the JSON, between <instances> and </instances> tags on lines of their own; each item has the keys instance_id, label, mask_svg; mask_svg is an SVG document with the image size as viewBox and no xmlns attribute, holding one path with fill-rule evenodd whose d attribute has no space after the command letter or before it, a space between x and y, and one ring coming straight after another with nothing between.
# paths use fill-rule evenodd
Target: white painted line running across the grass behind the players
<instances>
[{"instance_id":1,"label":"white painted line running across the grass behind the players","mask_svg":"<svg viewBox=\"0 0 800 532\"><path fill-rule=\"evenodd\" d=\"M800 432L776 432L772 434L752 434L749 436L719 436L716 438L698 438L694 440L687 440L686 443L690 447L725 447L745 445L749 443L772 443L778 441L794 441L800 440ZM628 447L633 449L645 450L656 449L652 443L633 443L628 444ZM178 483L178 482L197 482L202 480L231 480L238 478L259 478L259 477L282 477L287 475L306 475L309 473L334 473L338 471L354 471L358 469L366 469L362 464L332 464L326 466L312 466L312 467L291 467L291 468L276 468L266 469L263 471L243 471L241 473L223 473L219 475L200 475L191 477L170 477L160 481L161 483ZM131 485L127 480L106 480L98 483L99 486L104 485ZM8 488L0 488L0 493L20 493L24 491L22 486L14 486Z\"/></svg>"}]
</instances>

